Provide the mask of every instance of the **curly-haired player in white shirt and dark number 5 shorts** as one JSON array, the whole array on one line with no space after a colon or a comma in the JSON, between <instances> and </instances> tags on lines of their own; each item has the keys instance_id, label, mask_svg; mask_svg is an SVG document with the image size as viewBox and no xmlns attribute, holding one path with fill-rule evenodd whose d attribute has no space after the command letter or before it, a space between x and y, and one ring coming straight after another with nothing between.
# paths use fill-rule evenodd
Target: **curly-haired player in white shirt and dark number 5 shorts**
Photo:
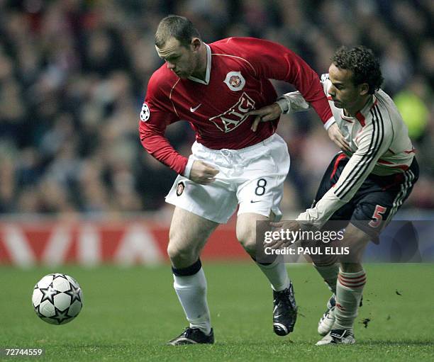
<instances>
[{"instance_id":1,"label":"curly-haired player in white shirt and dark number 5 shorts","mask_svg":"<svg viewBox=\"0 0 434 362\"><path fill-rule=\"evenodd\" d=\"M408 198L418 179L418 163L399 111L379 89L382 73L371 50L341 47L321 81L334 115L325 127L336 123L346 145L325 171L311 208L280 226L325 230L332 223L328 220L342 222L345 234L339 245L349 247L350 255L313 258L333 293L318 324L323 339L317 344L354 344L353 325L367 280L362 253L369 240L378 242ZM250 112L256 115L252 130L281 113L308 108L299 92L285 94L277 103Z\"/></svg>"}]
</instances>

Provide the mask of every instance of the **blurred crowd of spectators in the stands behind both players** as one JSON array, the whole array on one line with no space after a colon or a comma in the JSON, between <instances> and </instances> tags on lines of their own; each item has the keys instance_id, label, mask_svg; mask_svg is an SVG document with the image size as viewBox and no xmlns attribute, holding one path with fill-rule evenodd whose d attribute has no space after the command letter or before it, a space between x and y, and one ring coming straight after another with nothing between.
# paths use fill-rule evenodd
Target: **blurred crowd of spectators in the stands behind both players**
<instances>
[{"instance_id":1,"label":"blurred crowd of spectators in the stands behind both players","mask_svg":"<svg viewBox=\"0 0 434 362\"><path fill-rule=\"evenodd\" d=\"M207 43L255 36L327 72L340 45L379 57L421 165L405 208L434 208L432 0L0 0L0 213L165 214L176 176L140 145L138 115L160 67L154 33L187 16ZM278 92L291 86L276 82ZM285 215L311 204L336 152L315 112L284 116ZM186 156L187 122L167 129Z\"/></svg>"}]
</instances>

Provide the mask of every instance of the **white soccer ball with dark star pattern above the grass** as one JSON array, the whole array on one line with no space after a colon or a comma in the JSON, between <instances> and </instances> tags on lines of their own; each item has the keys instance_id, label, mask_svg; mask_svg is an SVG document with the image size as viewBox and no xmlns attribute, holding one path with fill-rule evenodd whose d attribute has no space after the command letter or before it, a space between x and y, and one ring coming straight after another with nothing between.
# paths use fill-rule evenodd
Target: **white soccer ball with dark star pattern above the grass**
<instances>
[{"instance_id":1,"label":"white soccer ball with dark star pattern above the grass","mask_svg":"<svg viewBox=\"0 0 434 362\"><path fill-rule=\"evenodd\" d=\"M74 278L54 273L44 276L33 289L36 315L50 324L66 324L82 310L83 293Z\"/></svg>"}]
</instances>

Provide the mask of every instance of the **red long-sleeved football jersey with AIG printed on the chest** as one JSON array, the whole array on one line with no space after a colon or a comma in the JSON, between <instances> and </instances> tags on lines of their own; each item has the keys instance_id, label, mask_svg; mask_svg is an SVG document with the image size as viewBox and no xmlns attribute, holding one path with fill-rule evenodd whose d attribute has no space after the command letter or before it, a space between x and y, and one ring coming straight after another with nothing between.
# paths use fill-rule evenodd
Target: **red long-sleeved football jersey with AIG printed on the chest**
<instances>
[{"instance_id":1,"label":"red long-sleeved football jersey with AIG printed on the chest","mask_svg":"<svg viewBox=\"0 0 434 362\"><path fill-rule=\"evenodd\" d=\"M323 123L333 117L316 72L286 47L255 38L228 38L206 47L206 80L180 79L163 64L150 78L140 113L143 147L178 174L188 160L165 138L167 125L187 120L196 141L211 149L255 145L271 136L279 122L260 123L252 132L254 118L246 115L276 101L268 79L294 84Z\"/></svg>"}]
</instances>

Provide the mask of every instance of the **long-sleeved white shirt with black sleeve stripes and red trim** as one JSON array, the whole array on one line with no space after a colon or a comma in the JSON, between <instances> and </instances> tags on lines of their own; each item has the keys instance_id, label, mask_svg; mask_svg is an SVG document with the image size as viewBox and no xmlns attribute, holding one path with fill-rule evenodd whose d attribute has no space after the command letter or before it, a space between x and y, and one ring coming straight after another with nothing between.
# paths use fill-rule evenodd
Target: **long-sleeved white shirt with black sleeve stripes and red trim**
<instances>
[{"instance_id":1,"label":"long-sleeved white shirt with black sleeve stripes and red trim","mask_svg":"<svg viewBox=\"0 0 434 362\"><path fill-rule=\"evenodd\" d=\"M331 86L328 74L323 74L321 81L324 93L328 95ZM318 200L314 208L297 217L297 220L305 220L318 228L350 201L369 174L386 176L404 172L414 157L408 129L394 101L381 89L355 117L347 117L342 108L335 107L330 97L328 100L335 122L350 144L351 152L346 154L350 160L335 186ZM278 103L285 113L309 108L299 92L284 94ZM328 125L331 124L333 121Z\"/></svg>"}]
</instances>

